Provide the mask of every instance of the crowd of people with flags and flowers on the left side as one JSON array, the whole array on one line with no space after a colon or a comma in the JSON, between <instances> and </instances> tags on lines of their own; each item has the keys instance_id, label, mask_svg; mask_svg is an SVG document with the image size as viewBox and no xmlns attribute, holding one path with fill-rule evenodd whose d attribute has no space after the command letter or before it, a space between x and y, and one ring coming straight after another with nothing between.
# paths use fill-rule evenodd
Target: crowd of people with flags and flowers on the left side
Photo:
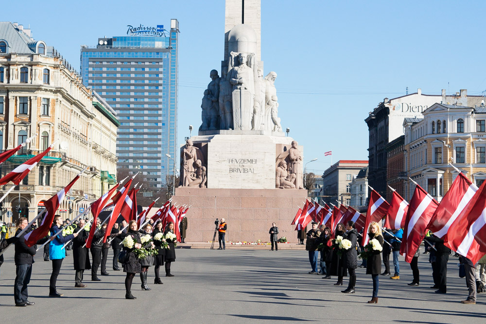
<instances>
[{"instance_id":1,"label":"crowd of people with flags and flowers on the left side","mask_svg":"<svg viewBox=\"0 0 486 324\"><path fill-rule=\"evenodd\" d=\"M87 284L83 281L85 270L91 271L91 281L101 281L98 277L100 268L102 276L109 275L106 271L106 263L110 247L113 249L113 271L120 271L121 269L118 265L121 263L122 270L126 273L126 299L136 299L132 295L131 286L137 273L140 275L141 289L151 290L147 284L147 275L151 266L155 267L154 284L162 284L159 274L160 266L165 266L166 277L174 276L171 273L171 265L175 261L175 247L177 243L174 234L174 222L167 223L165 229L163 229L161 221L156 222L155 226L153 221L150 221L142 229L139 229L136 221L130 221L129 223L122 221L114 224L109 235L106 235L107 239L104 241L107 226L106 223L102 224L101 220L98 219L95 224L96 230L94 231L90 248L87 248L90 227L93 226L88 221L88 219L81 219L79 222L70 224L69 220L63 222L61 216L56 215L54 216L50 233L45 238L37 241L37 244L29 247L26 245L24 237L33 228L28 228L21 233L29 223L25 217L18 219L15 235L8 239L3 237L0 240L0 252L8 248L10 244L15 245L15 306L25 307L35 304L28 299L28 285L38 244L45 244L43 250L44 260L52 261L49 297L63 296L61 292L57 291L56 282L63 260L66 256L69 256L66 251L69 250L72 250L75 288L87 287ZM91 261L89 255L91 255ZM0 256L0 267L2 263L3 255Z\"/></svg>"}]
</instances>

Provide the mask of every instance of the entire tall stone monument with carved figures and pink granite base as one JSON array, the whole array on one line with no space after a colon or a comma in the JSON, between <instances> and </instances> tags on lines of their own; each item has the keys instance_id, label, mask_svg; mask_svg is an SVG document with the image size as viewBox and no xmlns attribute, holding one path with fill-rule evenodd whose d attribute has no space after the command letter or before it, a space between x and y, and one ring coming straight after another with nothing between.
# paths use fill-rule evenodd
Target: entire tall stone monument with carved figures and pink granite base
<instances>
[{"instance_id":1,"label":"entire tall stone monument with carved figures and pink granite base","mask_svg":"<svg viewBox=\"0 0 486 324\"><path fill-rule=\"evenodd\" d=\"M227 241L268 241L276 222L278 237L295 242L290 223L307 197L303 148L282 131L277 73L264 72L260 0L226 0L224 60L210 78L198 136L180 153L174 202L191 205L187 240L212 240L215 219L225 218Z\"/></svg>"}]
</instances>

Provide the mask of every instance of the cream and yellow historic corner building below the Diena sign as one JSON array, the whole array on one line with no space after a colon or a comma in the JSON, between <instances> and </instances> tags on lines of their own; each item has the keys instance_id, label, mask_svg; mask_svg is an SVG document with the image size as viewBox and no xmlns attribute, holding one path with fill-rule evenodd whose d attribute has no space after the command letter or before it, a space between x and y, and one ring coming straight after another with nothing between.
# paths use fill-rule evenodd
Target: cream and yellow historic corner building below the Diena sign
<instances>
[{"instance_id":1,"label":"cream and yellow historic corner building below the Diena sign","mask_svg":"<svg viewBox=\"0 0 486 324\"><path fill-rule=\"evenodd\" d=\"M412 180L441 201L457 171L476 186L486 179L486 107L435 103L422 119L405 119L405 171ZM406 183L409 200L415 186Z\"/></svg>"}]
</instances>

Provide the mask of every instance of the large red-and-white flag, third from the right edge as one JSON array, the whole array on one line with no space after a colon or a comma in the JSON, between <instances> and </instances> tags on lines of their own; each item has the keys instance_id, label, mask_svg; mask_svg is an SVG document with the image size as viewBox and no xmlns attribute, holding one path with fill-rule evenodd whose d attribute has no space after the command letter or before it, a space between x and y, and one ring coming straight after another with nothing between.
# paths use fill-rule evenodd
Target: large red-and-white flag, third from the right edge
<instances>
[{"instance_id":1,"label":"large red-and-white flag, third from the right edge","mask_svg":"<svg viewBox=\"0 0 486 324\"><path fill-rule=\"evenodd\" d=\"M403 230L400 253L405 253L405 261L412 262L419 244L425 237L425 230L439 203L419 185L410 201Z\"/></svg>"}]
</instances>

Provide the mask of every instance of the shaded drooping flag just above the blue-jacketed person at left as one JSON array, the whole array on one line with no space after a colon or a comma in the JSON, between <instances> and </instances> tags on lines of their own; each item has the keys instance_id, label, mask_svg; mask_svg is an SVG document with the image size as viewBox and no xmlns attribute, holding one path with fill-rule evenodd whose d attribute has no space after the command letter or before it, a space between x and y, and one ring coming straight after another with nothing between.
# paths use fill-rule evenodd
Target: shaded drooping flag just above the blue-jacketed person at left
<instances>
[{"instance_id":1,"label":"shaded drooping flag just above the blue-jacketed person at left","mask_svg":"<svg viewBox=\"0 0 486 324\"><path fill-rule=\"evenodd\" d=\"M44 213L42 223L35 230L25 235L25 244L28 247L33 246L39 239L42 239L47 235L47 233L51 229L52 221L54 220L56 211L64 200L64 197L66 196L66 192L69 192L69 189L72 187L72 185L74 185L79 177L79 174L76 175L74 179L72 179L72 181L69 183L69 185L67 185L64 189L61 189L59 192L57 192L56 195L52 196L46 202L44 202L46 212Z\"/></svg>"}]
</instances>

